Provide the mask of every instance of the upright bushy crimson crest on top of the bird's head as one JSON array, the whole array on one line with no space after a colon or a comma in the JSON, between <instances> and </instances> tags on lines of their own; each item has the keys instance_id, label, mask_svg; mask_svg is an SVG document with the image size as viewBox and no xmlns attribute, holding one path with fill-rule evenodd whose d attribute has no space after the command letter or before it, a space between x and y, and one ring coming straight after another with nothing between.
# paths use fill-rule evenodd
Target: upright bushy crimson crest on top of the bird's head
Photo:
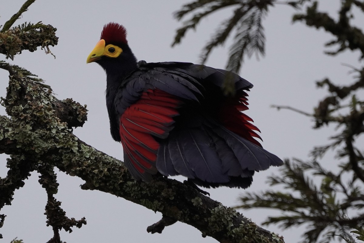
<instances>
[{"instance_id":1,"label":"upright bushy crimson crest on top of the bird's head","mask_svg":"<svg viewBox=\"0 0 364 243\"><path fill-rule=\"evenodd\" d=\"M104 25L100 39L104 39L106 43L128 43L126 40L126 28L114 22Z\"/></svg>"}]
</instances>

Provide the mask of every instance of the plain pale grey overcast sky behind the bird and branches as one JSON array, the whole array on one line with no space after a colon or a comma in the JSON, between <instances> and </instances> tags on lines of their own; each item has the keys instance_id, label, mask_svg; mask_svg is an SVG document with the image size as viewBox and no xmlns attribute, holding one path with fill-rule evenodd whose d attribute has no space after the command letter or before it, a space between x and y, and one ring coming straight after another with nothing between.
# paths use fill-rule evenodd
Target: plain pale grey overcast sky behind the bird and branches
<instances>
[{"instance_id":1,"label":"plain pale grey overcast sky behind the bird and branches","mask_svg":"<svg viewBox=\"0 0 364 243\"><path fill-rule=\"evenodd\" d=\"M1 1L0 24L4 24L18 11L23 0ZM122 160L122 146L110 136L104 91L106 75L96 63L86 65L86 58L98 42L104 24L115 21L128 30L128 43L139 60L147 62L181 61L198 62L198 54L203 44L214 33L220 21L230 16L232 9L209 16L198 25L197 32L190 31L181 45L171 48L175 30L181 26L173 19L172 13L187 1L177 0L133 0L133 1L88 1L88 0L37 0L28 12L16 22L36 23L43 21L56 27L58 46L51 48L56 59L37 50L15 56L9 62L27 68L45 79L59 99L73 98L87 104L88 121L74 134L87 144L110 156ZM327 5L322 5L324 2ZM340 1L320 1L322 9L336 13ZM278 5L271 8L265 18L266 55L258 61L255 57L246 59L240 75L254 84L249 92L247 114L261 130L262 145L281 158L307 158L314 145L327 144L332 129L312 130L310 118L289 111L276 111L272 104L290 105L311 112L318 99L326 94L317 90L314 81L325 77L344 85L351 81L349 69L341 65L348 63L358 66L357 52L344 52L333 58L323 54L323 44L331 36L323 30L317 31L304 24L291 23L292 8ZM363 18L355 19L364 23ZM227 47L215 50L207 65L224 68ZM4 58L4 57L3 57ZM0 95L5 96L8 73L0 70ZM5 109L0 108L0 114ZM7 173L5 156L1 157L0 176ZM331 161L324 160L326 165ZM331 167L333 165L331 164ZM266 177L278 173L279 168L269 169L254 176L248 192L266 189ZM28 242L47 242L52 237L52 229L46 227L44 206L46 192L39 183L37 173L32 173L25 186L15 192L11 206L5 206L1 213L7 215L3 228L2 242L13 238ZM183 178L178 178L182 180ZM212 243L212 238L202 238L195 228L176 223L165 228L162 234L151 235L146 227L161 219L161 213L154 213L136 205L99 191L83 191L79 185L83 181L58 172L59 193L56 198L62 201L62 208L68 217L86 217L87 225L75 228L71 234L61 231L61 239L66 242L202 242ZM209 189L211 198L227 206L237 205L237 197L243 189ZM246 217L260 224L265 217L276 215L269 210L240 211ZM277 227L265 227L283 235L286 242L299 242L302 230L282 231Z\"/></svg>"}]
</instances>

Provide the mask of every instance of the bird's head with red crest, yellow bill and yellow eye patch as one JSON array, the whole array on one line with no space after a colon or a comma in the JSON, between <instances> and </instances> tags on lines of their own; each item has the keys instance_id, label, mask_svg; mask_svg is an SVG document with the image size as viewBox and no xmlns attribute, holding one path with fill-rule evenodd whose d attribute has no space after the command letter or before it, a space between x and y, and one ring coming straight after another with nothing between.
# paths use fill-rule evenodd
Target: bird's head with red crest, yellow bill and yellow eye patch
<instances>
[{"instance_id":1,"label":"bird's head with red crest, yellow bill and yellow eye patch","mask_svg":"<svg viewBox=\"0 0 364 243\"><path fill-rule=\"evenodd\" d=\"M124 26L114 22L104 26L99 42L87 57L86 63L90 62L100 64L107 73L136 66Z\"/></svg>"}]
</instances>

